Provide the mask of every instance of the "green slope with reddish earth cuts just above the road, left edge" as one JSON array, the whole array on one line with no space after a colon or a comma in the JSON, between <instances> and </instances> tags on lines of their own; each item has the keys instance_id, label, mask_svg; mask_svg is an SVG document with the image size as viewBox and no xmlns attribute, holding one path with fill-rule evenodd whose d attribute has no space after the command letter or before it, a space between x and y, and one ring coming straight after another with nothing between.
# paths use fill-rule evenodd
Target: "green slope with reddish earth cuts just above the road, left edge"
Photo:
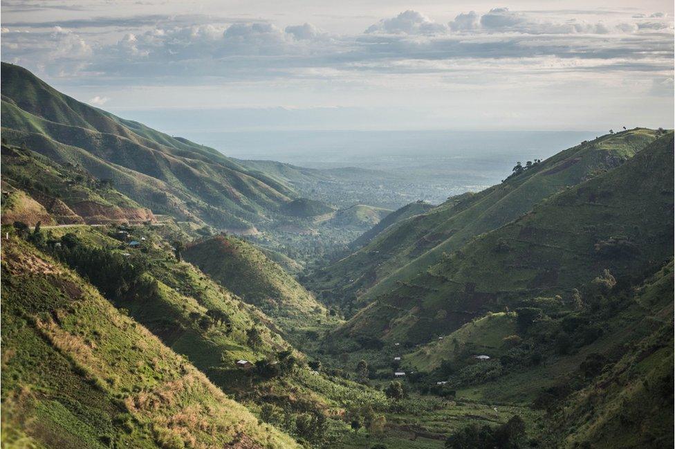
<instances>
[{"instance_id":1,"label":"green slope with reddish earth cuts just above the road, left edge","mask_svg":"<svg viewBox=\"0 0 675 449\"><path fill-rule=\"evenodd\" d=\"M154 220L150 210L115 190L108 180L28 149L3 145L2 176L3 182L30 193L59 223Z\"/></svg>"}]
</instances>

